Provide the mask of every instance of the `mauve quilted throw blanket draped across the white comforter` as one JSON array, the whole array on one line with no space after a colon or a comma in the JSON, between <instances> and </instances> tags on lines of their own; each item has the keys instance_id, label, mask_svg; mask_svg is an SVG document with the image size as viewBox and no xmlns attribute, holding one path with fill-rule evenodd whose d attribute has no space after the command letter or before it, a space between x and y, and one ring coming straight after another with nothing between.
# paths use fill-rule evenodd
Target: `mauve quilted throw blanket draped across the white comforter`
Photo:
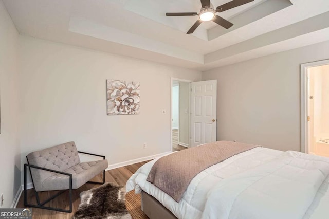
<instances>
[{"instance_id":1,"label":"mauve quilted throw blanket draped across the white comforter","mask_svg":"<svg viewBox=\"0 0 329 219\"><path fill-rule=\"evenodd\" d=\"M178 151L157 160L147 181L179 202L191 180L198 173L255 147L261 146L232 141L217 141Z\"/></svg>"}]
</instances>

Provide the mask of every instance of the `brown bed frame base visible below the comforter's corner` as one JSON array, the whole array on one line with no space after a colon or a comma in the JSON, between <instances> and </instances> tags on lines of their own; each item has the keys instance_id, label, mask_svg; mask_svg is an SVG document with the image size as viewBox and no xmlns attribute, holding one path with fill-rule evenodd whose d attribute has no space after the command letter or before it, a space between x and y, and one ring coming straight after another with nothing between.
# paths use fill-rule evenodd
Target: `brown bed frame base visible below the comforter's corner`
<instances>
[{"instance_id":1,"label":"brown bed frame base visible below the comforter's corner","mask_svg":"<svg viewBox=\"0 0 329 219\"><path fill-rule=\"evenodd\" d=\"M142 191L142 211L150 219L177 219L165 206L163 206L157 199Z\"/></svg>"}]
</instances>

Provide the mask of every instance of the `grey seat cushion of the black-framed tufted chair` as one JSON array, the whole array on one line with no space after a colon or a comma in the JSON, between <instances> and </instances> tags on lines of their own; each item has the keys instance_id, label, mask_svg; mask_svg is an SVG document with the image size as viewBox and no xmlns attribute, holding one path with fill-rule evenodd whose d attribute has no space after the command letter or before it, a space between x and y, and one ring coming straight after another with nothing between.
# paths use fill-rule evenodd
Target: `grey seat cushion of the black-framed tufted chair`
<instances>
[{"instance_id":1,"label":"grey seat cushion of the black-framed tufted chair","mask_svg":"<svg viewBox=\"0 0 329 219\"><path fill-rule=\"evenodd\" d=\"M72 189L78 189L90 179L97 176L108 167L107 160L82 162L64 170L72 174ZM42 182L41 188L36 191L50 191L69 189L69 177L63 174L54 174Z\"/></svg>"}]
</instances>

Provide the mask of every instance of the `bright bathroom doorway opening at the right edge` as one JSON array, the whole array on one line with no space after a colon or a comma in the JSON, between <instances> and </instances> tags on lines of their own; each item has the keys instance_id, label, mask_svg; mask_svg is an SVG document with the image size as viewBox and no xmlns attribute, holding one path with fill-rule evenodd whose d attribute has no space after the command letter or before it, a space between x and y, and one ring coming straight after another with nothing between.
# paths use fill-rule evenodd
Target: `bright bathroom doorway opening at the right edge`
<instances>
[{"instance_id":1,"label":"bright bathroom doorway opening at the right edge","mask_svg":"<svg viewBox=\"0 0 329 219\"><path fill-rule=\"evenodd\" d=\"M329 157L329 60L314 64L304 66L305 77L302 78L305 80L304 89L302 86L304 152Z\"/></svg>"}]
</instances>

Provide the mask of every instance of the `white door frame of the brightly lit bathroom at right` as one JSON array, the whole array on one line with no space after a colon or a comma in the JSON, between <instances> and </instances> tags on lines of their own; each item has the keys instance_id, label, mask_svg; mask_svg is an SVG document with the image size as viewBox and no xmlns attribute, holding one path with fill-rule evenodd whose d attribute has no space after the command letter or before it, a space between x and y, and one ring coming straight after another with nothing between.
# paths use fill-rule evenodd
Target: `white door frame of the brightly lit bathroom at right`
<instances>
[{"instance_id":1,"label":"white door frame of the brightly lit bathroom at right","mask_svg":"<svg viewBox=\"0 0 329 219\"><path fill-rule=\"evenodd\" d=\"M329 59L301 64L301 152L308 154L308 68L329 65Z\"/></svg>"}]
</instances>

